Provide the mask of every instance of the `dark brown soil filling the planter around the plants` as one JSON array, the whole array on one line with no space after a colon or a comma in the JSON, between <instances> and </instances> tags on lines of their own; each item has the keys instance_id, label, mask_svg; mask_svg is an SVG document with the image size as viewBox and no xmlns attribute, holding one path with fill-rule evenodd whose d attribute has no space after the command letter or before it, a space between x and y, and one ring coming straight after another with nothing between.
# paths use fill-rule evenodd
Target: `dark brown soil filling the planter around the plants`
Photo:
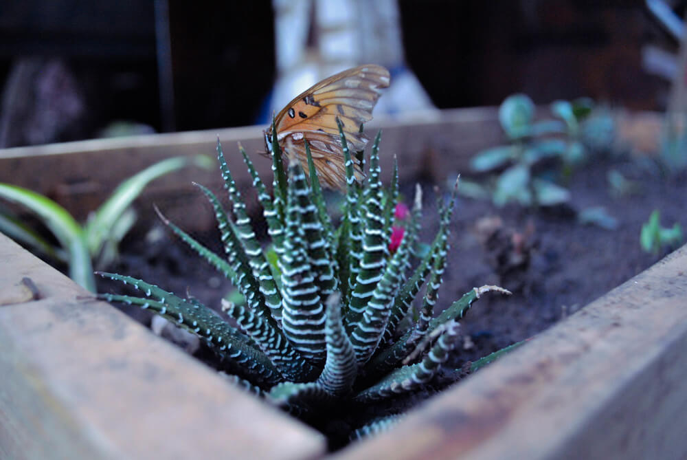
<instances>
[{"instance_id":1,"label":"dark brown soil filling the planter around the plants","mask_svg":"<svg viewBox=\"0 0 687 460\"><path fill-rule=\"evenodd\" d=\"M687 228L687 175L666 179L647 162L599 160L574 173L568 184L572 203L564 208L534 210L509 205L496 208L486 201L460 198L455 208L449 262L440 290L437 313L472 287L502 285L513 296L488 294L481 298L462 320L464 342L455 369L488 353L534 336L554 322L572 314L646 269L661 256L647 254L639 243L642 223L652 210L661 212L664 226L679 222ZM614 168L624 177L637 181L633 195L614 196L607 172ZM402 193L410 201L414 184ZM443 187L446 194L448 186ZM438 210L433 186L423 186L425 206L423 241L436 232ZM584 226L576 221L576 211L605 206L618 220L616 230ZM157 237L150 237L157 234ZM216 232L196 235L201 242L219 251ZM119 263L108 271L128 274L183 294L187 291L205 305L218 308L221 297L232 287L210 265L169 232L148 232L148 239L131 237L123 246ZM120 284L100 280L100 292L122 292ZM120 306L121 307L121 306ZM122 307L128 314L150 322L146 311ZM203 358L203 351L199 351ZM442 386L436 384L434 388ZM395 413L417 399L392 402L379 408L365 408L357 418L348 415L328 422L311 424L330 436L332 446L341 445L343 432L357 428L365 417ZM360 408L359 408L360 409ZM376 410L376 412L371 412Z\"/></svg>"}]
</instances>

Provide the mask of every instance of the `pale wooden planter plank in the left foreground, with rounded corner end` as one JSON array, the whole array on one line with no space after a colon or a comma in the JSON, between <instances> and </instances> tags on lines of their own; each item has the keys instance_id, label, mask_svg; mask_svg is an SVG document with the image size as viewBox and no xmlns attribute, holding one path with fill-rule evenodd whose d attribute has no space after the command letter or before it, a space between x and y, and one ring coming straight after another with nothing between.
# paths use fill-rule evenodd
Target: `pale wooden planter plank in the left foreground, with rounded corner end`
<instances>
[{"instance_id":1,"label":"pale wooden planter plank in the left foreground, with rounded corner end","mask_svg":"<svg viewBox=\"0 0 687 460\"><path fill-rule=\"evenodd\" d=\"M322 435L241 393L0 234L1 458L303 459ZM9 296L8 296L9 297Z\"/></svg>"}]
</instances>

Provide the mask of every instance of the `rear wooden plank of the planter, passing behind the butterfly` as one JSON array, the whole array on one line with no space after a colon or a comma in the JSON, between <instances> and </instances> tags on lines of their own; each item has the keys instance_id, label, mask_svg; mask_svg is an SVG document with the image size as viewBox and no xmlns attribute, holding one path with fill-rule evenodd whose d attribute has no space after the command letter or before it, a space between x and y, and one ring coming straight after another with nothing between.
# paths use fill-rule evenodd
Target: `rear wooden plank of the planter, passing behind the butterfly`
<instances>
[{"instance_id":1,"label":"rear wooden plank of the planter, passing behind the butterfly","mask_svg":"<svg viewBox=\"0 0 687 460\"><path fill-rule=\"evenodd\" d=\"M403 165L401 179L405 181L416 180L419 175L441 181L453 171L465 171L469 155L499 141L501 132L495 113L493 108L459 109L374 120L368 131L383 129L384 179L390 177L394 155ZM251 178L236 143L243 144L260 176L271 183L271 162L258 154L264 152L262 129L190 131L4 149L0 150L0 182L21 185L56 199L79 221L85 221L88 213L126 177L166 157L215 155L219 137L234 179L240 189L247 190ZM140 218L147 223L157 219L152 212L155 203L186 230L214 226L214 215L192 181L217 192L222 190L215 169L194 168L162 177L150 184L139 199ZM254 195L248 195L249 204L256 203Z\"/></svg>"}]
</instances>

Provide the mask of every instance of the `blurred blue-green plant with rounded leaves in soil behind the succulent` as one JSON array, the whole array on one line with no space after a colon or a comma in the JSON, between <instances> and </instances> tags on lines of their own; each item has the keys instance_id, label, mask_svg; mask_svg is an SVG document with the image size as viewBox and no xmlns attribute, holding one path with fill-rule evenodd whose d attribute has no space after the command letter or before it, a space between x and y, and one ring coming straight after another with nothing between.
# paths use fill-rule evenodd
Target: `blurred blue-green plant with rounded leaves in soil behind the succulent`
<instances>
[{"instance_id":1,"label":"blurred blue-green plant with rounded leaves in soil behind the succulent","mask_svg":"<svg viewBox=\"0 0 687 460\"><path fill-rule=\"evenodd\" d=\"M548 177L551 171L539 168L556 160L560 171L570 175L589 153L609 151L615 127L607 111L594 111L592 101L556 100L550 107L560 120L534 121L534 103L524 94L515 94L499 107L499 122L510 144L477 153L471 167L478 173L495 172L491 184L481 188L470 183L472 197L491 195L497 206L516 202L525 206L553 206L565 203L570 193Z\"/></svg>"}]
</instances>

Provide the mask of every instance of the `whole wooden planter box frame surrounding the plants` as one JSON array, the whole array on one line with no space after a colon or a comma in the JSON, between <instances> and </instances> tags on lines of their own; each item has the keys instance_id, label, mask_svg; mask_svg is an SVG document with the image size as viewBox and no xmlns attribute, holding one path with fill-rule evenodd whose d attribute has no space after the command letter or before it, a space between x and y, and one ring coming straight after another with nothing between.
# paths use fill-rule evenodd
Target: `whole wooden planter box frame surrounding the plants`
<instances>
[{"instance_id":1,"label":"whole wooden planter box frame surrounding the plants","mask_svg":"<svg viewBox=\"0 0 687 460\"><path fill-rule=\"evenodd\" d=\"M438 171L465 168L467 155L500 135L494 109L380 124L385 152L399 156L404 175L429 164L436 179ZM215 135L0 151L0 181L63 197L82 217L122 178L162 157L207 153ZM239 139L249 152L260 149L259 129L219 135L225 152ZM194 172L188 182L218 184L212 173L203 180ZM164 208L172 219L201 228L188 208L186 218L172 214L195 203L191 188L168 196L178 182L153 184L143 201L171 201ZM74 188L60 190L64 184ZM0 261L1 458L327 456L318 432L232 388L2 235ZM333 457L684 458L685 413L687 245L416 408L390 432Z\"/></svg>"}]
</instances>

